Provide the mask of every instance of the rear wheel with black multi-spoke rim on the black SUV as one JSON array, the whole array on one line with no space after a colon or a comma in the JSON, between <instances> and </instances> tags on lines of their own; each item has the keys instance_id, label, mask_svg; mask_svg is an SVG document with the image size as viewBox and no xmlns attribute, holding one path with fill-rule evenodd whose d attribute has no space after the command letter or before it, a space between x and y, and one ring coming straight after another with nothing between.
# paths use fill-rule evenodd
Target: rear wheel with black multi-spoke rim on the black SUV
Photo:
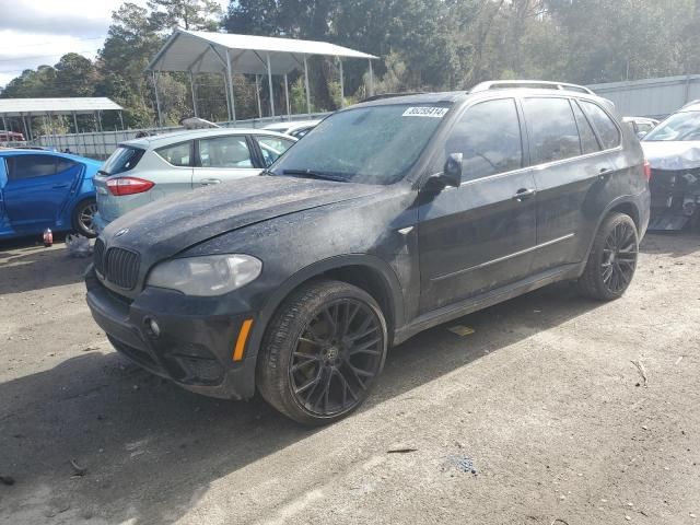
<instances>
[{"instance_id":1,"label":"rear wheel with black multi-spoke rim on the black SUV","mask_svg":"<svg viewBox=\"0 0 700 525\"><path fill-rule=\"evenodd\" d=\"M621 298L634 277L638 253L634 221L625 213L610 213L593 241L586 268L579 278L580 292L597 301Z\"/></svg>"}]
</instances>

